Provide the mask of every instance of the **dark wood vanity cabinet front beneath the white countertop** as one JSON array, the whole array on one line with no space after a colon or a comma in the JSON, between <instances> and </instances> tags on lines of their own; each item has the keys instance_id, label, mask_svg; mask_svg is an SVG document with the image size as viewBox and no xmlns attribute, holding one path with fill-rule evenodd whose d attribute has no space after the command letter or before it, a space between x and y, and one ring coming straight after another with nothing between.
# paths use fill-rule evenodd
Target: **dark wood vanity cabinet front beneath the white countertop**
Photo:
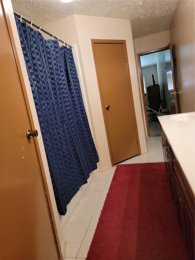
<instances>
[{"instance_id":1,"label":"dark wood vanity cabinet front beneath the white countertop","mask_svg":"<svg viewBox=\"0 0 195 260\"><path fill-rule=\"evenodd\" d=\"M189 259L194 260L194 194L162 129L161 133L165 169L170 183L172 202L176 209Z\"/></svg>"}]
</instances>

